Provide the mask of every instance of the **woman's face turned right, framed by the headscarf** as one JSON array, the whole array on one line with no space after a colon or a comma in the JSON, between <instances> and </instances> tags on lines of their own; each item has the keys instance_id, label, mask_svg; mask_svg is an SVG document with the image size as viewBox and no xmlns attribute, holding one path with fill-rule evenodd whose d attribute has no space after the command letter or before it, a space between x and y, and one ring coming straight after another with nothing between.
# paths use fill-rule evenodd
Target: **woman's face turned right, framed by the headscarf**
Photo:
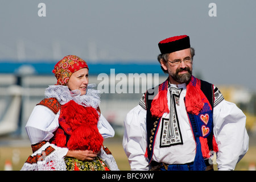
<instances>
[{"instance_id":1,"label":"woman's face turned right, framed by the headscarf","mask_svg":"<svg viewBox=\"0 0 256 182\"><path fill-rule=\"evenodd\" d=\"M86 94L87 85L89 83L89 73L87 68L79 69L72 73L68 81L68 88L70 90L80 90L81 96Z\"/></svg>"}]
</instances>

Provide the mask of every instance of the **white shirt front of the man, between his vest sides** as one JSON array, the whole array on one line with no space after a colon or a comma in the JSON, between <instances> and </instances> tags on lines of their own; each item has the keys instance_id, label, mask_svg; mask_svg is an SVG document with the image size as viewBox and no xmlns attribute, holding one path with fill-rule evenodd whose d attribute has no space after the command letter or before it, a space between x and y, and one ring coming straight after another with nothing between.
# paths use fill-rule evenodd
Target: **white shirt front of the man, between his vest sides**
<instances>
[{"instance_id":1,"label":"white shirt front of the man, between his vest sides","mask_svg":"<svg viewBox=\"0 0 256 182\"><path fill-rule=\"evenodd\" d=\"M195 158L196 153L196 143L195 139L193 138L193 133L191 129L191 125L189 124L188 115L184 114L186 113L185 110L185 103L184 103L184 97L186 94L186 87L180 86L177 89L180 89L180 99L179 103L177 100L173 100L175 102L176 106L176 114L179 118L179 127L180 127L180 136L182 136L182 144L181 143L172 143L170 146L161 146L161 137L163 128L162 126L164 123L168 121L168 124L170 124L170 113L164 113L162 118L160 118L159 121L159 130L155 134L155 144L154 144L154 154L152 155L152 160L156 162L163 162L167 164L183 164L192 162ZM168 88L170 89L170 88ZM168 106L170 107L170 92L167 92L168 97ZM177 102L176 102L177 101ZM174 131L175 132L175 131ZM153 149L152 149L153 150ZM179 152L179 156L177 156L177 152Z\"/></svg>"}]
</instances>

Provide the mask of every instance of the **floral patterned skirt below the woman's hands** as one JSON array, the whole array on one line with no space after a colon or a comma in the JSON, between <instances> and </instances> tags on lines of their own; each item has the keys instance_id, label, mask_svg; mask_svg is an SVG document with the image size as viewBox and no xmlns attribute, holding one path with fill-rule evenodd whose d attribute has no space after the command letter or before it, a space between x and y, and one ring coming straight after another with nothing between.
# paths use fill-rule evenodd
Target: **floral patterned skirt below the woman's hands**
<instances>
[{"instance_id":1,"label":"floral patterned skirt below the woman's hands","mask_svg":"<svg viewBox=\"0 0 256 182\"><path fill-rule=\"evenodd\" d=\"M67 171L110 171L108 165L98 156L90 161L64 158Z\"/></svg>"}]
</instances>

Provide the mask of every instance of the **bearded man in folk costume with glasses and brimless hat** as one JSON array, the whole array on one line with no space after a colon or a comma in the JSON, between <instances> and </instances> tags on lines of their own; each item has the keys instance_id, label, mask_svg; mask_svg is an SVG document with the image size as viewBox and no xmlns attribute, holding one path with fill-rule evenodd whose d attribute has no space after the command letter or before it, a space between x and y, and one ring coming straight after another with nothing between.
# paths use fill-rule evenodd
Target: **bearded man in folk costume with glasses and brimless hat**
<instances>
[{"instance_id":1,"label":"bearded man in folk costume with glasses and brimless hat","mask_svg":"<svg viewBox=\"0 0 256 182\"><path fill-rule=\"evenodd\" d=\"M123 148L131 170L234 170L248 150L246 117L220 90L192 76L189 36L158 44L168 78L126 115Z\"/></svg>"}]
</instances>

